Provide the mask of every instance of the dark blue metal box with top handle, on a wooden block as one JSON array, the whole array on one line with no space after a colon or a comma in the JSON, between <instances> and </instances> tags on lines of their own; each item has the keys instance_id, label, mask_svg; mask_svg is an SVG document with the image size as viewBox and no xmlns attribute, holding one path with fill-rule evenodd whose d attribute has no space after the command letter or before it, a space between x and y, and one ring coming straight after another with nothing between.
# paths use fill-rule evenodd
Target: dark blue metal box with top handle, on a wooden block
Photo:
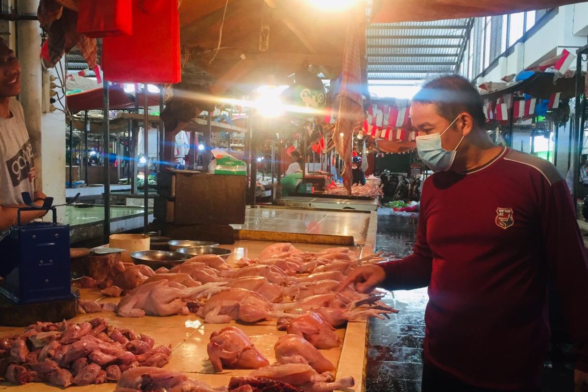
<instances>
[{"instance_id":1,"label":"dark blue metal box with top handle, on a wooden block","mask_svg":"<svg viewBox=\"0 0 588 392\"><path fill-rule=\"evenodd\" d=\"M74 300L70 287L69 226L57 223L52 197L41 207L22 193L28 207L18 209L16 226L0 242L0 294L17 305ZM21 223L25 211L51 211L52 222Z\"/></svg>"}]
</instances>

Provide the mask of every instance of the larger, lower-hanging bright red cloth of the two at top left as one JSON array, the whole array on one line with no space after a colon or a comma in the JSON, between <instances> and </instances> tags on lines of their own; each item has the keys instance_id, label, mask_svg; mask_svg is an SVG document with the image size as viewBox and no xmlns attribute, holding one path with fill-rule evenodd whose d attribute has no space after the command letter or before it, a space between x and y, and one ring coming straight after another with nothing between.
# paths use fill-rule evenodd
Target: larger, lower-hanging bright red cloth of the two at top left
<instances>
[{"instance_id":1,"label":"larger, lower-hanging bright red cloth of the two at top left","mask_svg":"<svg viewBox=\"0 0 588 392\"><path fill-rule=\"evenodd\" d=\"M132 0L133 34L103 39L110 82L181 82L178 0Z\"/></svg>"}]
</instances>

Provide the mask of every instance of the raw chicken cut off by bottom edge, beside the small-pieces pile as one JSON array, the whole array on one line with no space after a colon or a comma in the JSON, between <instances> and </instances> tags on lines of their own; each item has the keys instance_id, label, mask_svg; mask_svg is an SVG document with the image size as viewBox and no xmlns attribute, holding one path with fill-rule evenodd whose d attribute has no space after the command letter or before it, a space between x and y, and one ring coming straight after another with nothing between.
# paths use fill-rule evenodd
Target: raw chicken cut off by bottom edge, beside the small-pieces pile
<instances>
[{"instance_id":1,"label":"raw chicken cut off by bottom edge, beside the small-pieces pile","mask_svg":"<svg viewBox=\"0 0 588 392\"><path fill-rule=\"evenodd\" d=\"M212 388L177 371L158 367L135 367L122 373L115 392L226 392L226 390L226 387Z\"/></svg>"}]
</instances>

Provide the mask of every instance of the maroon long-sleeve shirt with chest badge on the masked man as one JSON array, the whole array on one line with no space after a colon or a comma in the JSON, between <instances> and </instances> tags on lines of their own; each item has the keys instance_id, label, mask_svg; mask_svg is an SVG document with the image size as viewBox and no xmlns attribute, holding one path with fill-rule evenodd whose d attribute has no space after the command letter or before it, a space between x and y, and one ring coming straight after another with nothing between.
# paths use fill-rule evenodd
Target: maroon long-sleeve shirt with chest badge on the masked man
<instances>
[{"instance_id":1,"label":"maroon long-sleeve shirt with chest badge on the masked man","mask_svg":"<svg viewBox=\"0 0 588 392\"><path fill-rule=\"evenodd\" d=\"M588 267L572 197L546 160L505 149L423 185L417 242L385 287L429 286L425 359L477 387L536 387L549 344L547 282L588 371Z\"/></svg>"}]
</instances>

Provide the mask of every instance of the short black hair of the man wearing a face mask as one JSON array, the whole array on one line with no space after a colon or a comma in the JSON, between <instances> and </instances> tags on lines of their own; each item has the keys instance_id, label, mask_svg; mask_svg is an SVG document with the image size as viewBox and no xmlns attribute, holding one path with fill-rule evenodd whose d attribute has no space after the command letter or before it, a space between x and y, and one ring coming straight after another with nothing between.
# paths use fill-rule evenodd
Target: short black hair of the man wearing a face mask
<instances>
[{"instance_id":1,"label":"short black hair of the man wearing a face mask","mask_svg":"<svg viewBox=\"0 0 588 392\"><path fill-rule=\"evenodd\" d=\"M469 113L476 126L485 128L484 102L474 85L459 75L441 76L425 83L413 102L432 103L437 113L452 122L459 113Z\"/></svg>"}]
</instances>

